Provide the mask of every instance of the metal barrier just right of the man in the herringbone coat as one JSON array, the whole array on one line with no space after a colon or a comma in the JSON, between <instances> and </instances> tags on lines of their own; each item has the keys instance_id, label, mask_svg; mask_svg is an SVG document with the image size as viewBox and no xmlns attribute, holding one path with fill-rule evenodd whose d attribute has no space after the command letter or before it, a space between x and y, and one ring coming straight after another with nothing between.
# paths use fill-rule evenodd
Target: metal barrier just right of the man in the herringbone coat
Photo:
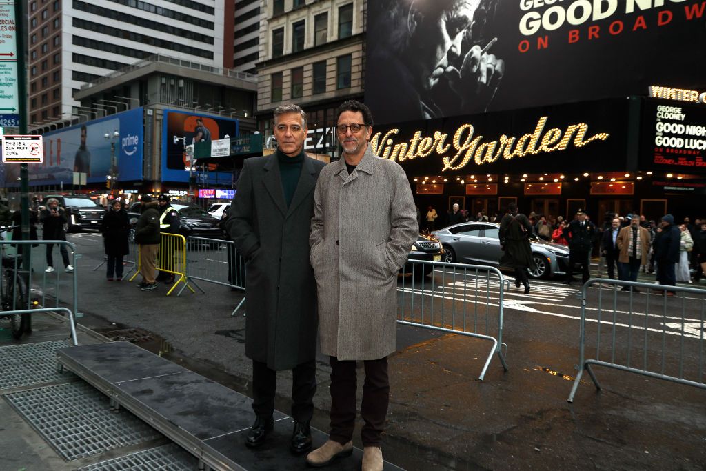
<instances>
[{"instance_id":1,"label":"metal barrier just right of the man in the herringbone coat","mask_svg":"<svg viewBox=\"0 0 706 471\"><path fill-rule=\"evenodd\" d=\"M508 371L503 344L505 279L497 268L408 261L397 279L397 323L467 335L493 343L479 380L497 354ZM494 334L494 335L493 335Z\"/></svg>"}]
</instances>

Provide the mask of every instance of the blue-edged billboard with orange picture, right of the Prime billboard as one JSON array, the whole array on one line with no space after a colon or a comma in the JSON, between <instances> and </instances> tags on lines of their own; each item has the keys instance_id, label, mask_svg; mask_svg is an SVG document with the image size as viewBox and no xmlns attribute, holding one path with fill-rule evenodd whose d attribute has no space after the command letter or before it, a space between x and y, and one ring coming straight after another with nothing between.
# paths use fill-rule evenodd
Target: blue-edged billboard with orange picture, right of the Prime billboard
<instances>
[{"instance_id":1,"label":"blue-edged billboard with orange picture, right of the Prime billboard","mask_svg":"<svg viewBox=\"0 0 706 471\"><path fill-rule=\"evenodd\" d=\"M238 136L237 119L199 116L197 114L164 110L162 129L162 181L188 182L189 160L186 146L198 142L216 141L226 136ZM215 163L198 164L193 177L202 184L232 183L232 172L220 172Z\"/></svg>"}]
</instances>

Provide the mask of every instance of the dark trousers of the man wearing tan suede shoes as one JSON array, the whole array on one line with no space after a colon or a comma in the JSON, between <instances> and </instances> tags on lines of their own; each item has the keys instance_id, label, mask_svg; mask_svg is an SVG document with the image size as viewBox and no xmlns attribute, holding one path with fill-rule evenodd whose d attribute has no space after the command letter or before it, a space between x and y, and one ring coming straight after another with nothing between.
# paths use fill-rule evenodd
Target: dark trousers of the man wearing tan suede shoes
<instances>
[{"instance_id":1,"label":"dark trousers of the man wearing tan suede shoes","mask_svg":"<svg viewBox=\"0 0 706 471\"><path fill-rule=\"evenodd\" d=\"M356 362L340 362L330 357L331 362L331 431L329 438L345 444L353 438L356 416L356 390L358 386ZM385 428L385 417L390 402L388 381L388 357L365 360L365 383L360 415L365 425L361 431L363 446L380 446Z\"/></svg>"}]
</instances>

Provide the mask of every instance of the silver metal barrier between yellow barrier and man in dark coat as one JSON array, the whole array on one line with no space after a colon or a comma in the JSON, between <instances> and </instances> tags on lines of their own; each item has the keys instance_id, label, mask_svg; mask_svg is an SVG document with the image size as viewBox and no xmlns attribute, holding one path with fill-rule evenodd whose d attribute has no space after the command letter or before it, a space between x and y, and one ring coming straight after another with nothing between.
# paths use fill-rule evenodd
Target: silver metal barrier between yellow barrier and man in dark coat
<instances>
[{"instance_id":1,"label":"silver metal barrier between yellow barrier and man in dark coat","mask_svg":"<svg viewBox=\"0 0 706 471\"><path fill-rule=\"evenodd\" d=\"M186 256L187 280L201 292L203 289L196 280L245 291L245 259L232 241L189 237L186 246L189 249ZM234 316L244 303L245 297L231 315Z\"/></svg>"}]
</instances>

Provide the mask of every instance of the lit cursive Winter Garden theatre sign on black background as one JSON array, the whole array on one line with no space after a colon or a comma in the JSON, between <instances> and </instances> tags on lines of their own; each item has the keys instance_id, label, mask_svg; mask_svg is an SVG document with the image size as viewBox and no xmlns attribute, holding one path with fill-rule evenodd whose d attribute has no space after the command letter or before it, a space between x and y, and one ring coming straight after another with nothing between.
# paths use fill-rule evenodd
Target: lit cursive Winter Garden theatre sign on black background
<instances>
[{"instance_id":1,"label":"lit cursive Winter Garden theatre sign on black background","mask_svg":"<svg viewBox=\"0 0 706 471\"><path fill-rule=\"evenodd\" d=\"M604 100L413 121L376 128L370 142L373 153L408 173L564 172L566 159L584 170L623 170L626 161L615 156L626 155L627 109L627 100Z\"/></svg>"}]
</instances>

